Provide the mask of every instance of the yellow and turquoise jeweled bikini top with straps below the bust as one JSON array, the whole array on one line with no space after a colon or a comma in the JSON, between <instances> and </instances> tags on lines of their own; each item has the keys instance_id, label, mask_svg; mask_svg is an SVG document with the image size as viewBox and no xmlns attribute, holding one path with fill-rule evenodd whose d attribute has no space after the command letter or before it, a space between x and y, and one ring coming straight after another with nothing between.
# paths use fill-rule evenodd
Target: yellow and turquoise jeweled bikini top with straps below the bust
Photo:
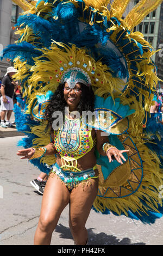
<instances>
[{"instance_id":1,"label":"yellow and turquoise jeweled bikini top with straps below the bust","mask_svg":"<svg viewBox=\"0 0 163 256\"><path fill-rule=\"evenodd\" d=\"M61 156L62 169L72 167L71 170L80 171L77 159L88 153L95 144L96 138L92 140L91 130L81 119L65 117L61 129L54 131L54 146ZM76 166L73 166L73 161L76 161Z\"/></svg>"}]
</instances>

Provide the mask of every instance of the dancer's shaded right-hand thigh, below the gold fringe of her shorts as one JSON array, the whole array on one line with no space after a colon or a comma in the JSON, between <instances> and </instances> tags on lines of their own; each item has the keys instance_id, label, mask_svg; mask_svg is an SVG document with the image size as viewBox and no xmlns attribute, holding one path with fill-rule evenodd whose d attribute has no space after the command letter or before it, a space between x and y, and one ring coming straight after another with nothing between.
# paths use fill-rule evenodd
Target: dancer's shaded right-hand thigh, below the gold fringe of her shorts
<instances>
[{"instance_id":1,"label":"dancer's shaded right-hand thigh, below the gold fringe of her shorts","mask_svg":"<svg viewBox=\"0 0 163 256\"><path fill-rule=\"evenodd\" d=\"M91 179L88 184L80 183L70 195L70 218L71 228L85 227L92 204L97 196L98 178Z\"/></svg>"}]
</instances>

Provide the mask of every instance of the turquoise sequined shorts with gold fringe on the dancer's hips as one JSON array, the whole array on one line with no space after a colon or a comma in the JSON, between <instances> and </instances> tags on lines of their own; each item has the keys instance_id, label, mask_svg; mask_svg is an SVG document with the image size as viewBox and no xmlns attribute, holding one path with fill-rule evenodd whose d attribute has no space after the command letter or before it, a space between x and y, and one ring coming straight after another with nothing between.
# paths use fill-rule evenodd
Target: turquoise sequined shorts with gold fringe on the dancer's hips
<instances>
[{"instance_id":1,"label":"turquoise sequined shorts with gold fringe on the dancer's hips","mask_svg":"<svg viewBox=\"0 0 163 256\"><path fill-rule=\"evenodd\" d=\"M91 169L82 170L81 172L65 172L60 166L55 163L51 173L55 173L64 182L69 191L72 191L74 187L77 187L81 182L86 182L92 178L98 178L95 176L96 166Z\"/></svg>"}]
</instances>

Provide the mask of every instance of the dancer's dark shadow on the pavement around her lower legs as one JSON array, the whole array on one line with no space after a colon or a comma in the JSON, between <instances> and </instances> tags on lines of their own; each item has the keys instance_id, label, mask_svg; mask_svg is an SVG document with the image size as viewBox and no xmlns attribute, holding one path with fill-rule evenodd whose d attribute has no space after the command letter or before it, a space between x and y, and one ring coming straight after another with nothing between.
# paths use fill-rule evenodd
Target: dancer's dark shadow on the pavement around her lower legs
<instances>
[{"instance_id":1,"label":"dancer's dark shadow on the pavement around her lower legs","mask_svg":"<svg viewBox=\"0 0 163 256\"><path fill-rule=\"evenodd\" d=\"M63 239L73 240L70 229L64 227L62 224L57 225L55 232L60 233L60 237ZM124 237L120 240L114 235L107 235L103 232L96 234L93 232L93 228L87 229L87 232L89 234L88 245L146 245L143 242L131 243L131 240L128 237Z\"/></svg>"}]
</instances>

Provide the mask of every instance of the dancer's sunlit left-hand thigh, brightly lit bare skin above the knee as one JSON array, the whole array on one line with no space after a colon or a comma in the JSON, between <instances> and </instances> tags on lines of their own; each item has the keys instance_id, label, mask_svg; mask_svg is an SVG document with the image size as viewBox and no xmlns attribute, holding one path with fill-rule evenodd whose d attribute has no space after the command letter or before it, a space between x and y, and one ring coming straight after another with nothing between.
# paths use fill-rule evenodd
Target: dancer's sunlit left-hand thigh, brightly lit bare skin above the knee
<instances>
[{"instance_id":1,"label":"dancer's sunlit left-hand thigh, brightly lit bare skin above the knee","mask_svg":"<svg viewBox=\"0 0 163 256\"><path fill-rule=\"evenodd\" d=\"M70 202L70 192L57 175L51 173L43 192L40 222L57 225L60 214Z\"/></svg>"}]
</instances>

